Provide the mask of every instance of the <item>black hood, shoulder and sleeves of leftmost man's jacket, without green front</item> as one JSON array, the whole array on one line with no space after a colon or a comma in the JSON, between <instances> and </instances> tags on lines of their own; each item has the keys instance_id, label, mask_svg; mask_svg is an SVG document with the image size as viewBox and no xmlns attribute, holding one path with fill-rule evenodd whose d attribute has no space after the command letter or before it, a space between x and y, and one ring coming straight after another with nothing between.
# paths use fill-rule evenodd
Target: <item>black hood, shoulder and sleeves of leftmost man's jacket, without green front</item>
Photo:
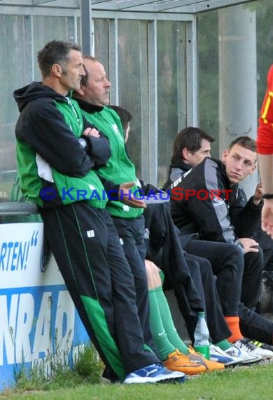
<instances>
[{"instance_id":1,"label":"black hood, shoulder and sleeves of leftmost man's jacket, without green front","mask_svg":"<svg viewBox=\"0 0 273 400\"><path fill-rule=\"evenodd\" d=\"M50 166L65 175L81 177L96 163L106 164L110 156L106 136L102 132L103 140L81 136L87 142L83 149L64 114L57 109L56 103L67 104L69 96L64 97L48 86L32 82L14 91L13 97L20 111L15 128L17 138L27 142ZM83 118L83 131L87 127L95 128Z\"/></svg>"}]
</instances>

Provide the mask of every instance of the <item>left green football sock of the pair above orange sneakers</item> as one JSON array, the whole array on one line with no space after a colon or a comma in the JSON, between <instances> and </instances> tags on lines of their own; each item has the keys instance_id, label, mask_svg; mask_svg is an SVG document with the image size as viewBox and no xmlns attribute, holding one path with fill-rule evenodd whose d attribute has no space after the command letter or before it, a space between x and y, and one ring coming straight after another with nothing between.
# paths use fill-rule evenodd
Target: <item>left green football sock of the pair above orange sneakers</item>
<instances>
[{"instance_id":1,"label":"left green football sock of the pair above orange sneakers","mask_svg":"<svg viewBox=\"0 0 273 400\"><path fill-rule=\"evenodd\" d=\"M150 302L150 326L153 334L153 341L158 349L161 361L165 361L168 355L174 352L175 347L169 341L165 328L162 324L160 309L158 307L158 300L155 292L157 289L149 290Z\"/></svg>"}]
</instances>

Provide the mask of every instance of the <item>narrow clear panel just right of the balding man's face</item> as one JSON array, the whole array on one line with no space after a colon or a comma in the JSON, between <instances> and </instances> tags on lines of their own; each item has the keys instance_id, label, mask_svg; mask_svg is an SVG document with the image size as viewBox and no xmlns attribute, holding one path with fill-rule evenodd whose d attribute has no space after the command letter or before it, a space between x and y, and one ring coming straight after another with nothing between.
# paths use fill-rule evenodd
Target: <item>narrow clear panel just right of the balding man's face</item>
<instances>
[{"instance_id":1,"label":"narrow clear panel just right of the balding man's face","mask_svg":"<svg viewBox=\"0 0 273 400\"><path fill-rule=\"evenodd\" d=\"M146 21L118 21L119 103L133 116L127 147L141 178L142 161L148 149L141 144L148 135L148 62Z\"/></svg>"}]
</instances>

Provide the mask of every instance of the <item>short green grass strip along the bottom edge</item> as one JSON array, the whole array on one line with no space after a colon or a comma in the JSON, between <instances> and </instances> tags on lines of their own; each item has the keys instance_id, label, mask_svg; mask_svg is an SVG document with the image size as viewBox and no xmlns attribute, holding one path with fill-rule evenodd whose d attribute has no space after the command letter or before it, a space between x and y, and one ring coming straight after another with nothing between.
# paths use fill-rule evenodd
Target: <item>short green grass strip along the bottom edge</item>
<instances>
[{"instance_id":1,"label":"short green grass strip along the bottom edge","mask_svg":"<svg viewBox=\"0 0 273 400\"><path fill-rule=\"evenodd\" d=\"M80 383L45 390L7 390L1 399L46 400L263 400L272 398L273 364L228 368L183 384L111 385Z\"/></svg>"}]
</instances>

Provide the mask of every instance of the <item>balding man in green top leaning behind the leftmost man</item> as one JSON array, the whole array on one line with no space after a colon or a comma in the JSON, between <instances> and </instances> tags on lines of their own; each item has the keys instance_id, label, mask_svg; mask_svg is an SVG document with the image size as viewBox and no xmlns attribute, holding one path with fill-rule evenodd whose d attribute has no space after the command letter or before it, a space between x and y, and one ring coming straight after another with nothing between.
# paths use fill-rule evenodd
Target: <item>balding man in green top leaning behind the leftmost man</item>
<instances>
[{"instance_id":1,"label":"balding man in green top leaning behind the leftmost man","mask_svg":"<svg viewBox=\"0 0 273 400\"><path fill-rule=\"evenodd\" d=\"M111 157L106 164L97 170L100 177L109 179L115 184L121 182L138 182L134 164L125 150L123 126L118 114L109 107L111 84L106 79L104 66L96 58L83 57L85 76L81 87L73 93L83 115L90 123L96 125L109 138ZM131 196L138 196L137 183L131 188ZM139 319L144 331L144 338L153 347L151 328L149 326L148 282L145 269L146 247L144 243L144 216L142 208L132 208L120 201L109 201L106 208L110 211L114 225L118 230L126 258L130 264L137 293Z\"/></svg>"}]
</instances>

